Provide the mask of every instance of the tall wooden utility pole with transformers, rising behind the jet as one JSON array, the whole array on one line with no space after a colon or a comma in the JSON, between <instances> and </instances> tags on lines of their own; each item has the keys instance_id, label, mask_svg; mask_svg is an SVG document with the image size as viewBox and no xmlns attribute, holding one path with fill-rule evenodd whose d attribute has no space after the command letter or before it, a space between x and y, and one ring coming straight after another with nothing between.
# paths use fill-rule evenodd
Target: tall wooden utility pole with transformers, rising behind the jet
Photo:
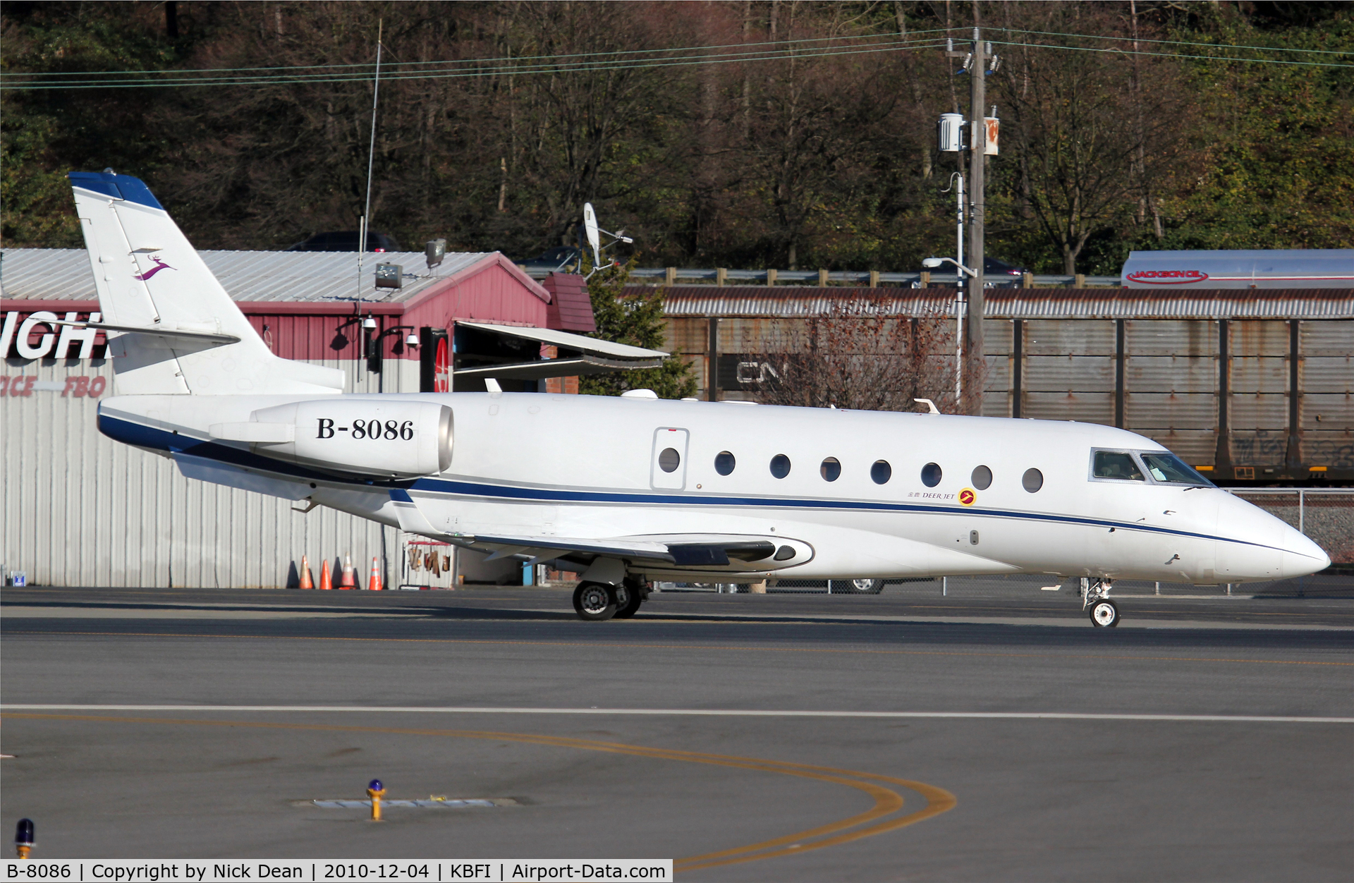
<instances>
[{"instance_id":1,"label":"tall wooden utility pole with transformers, rising behind the jet","mask_svg":"<svg viewBox=\"0 0 1354 883\"><path fill-rule=\"evenodd\" d=\"M974 56L968 64L969 104L968 104L968 264L975 271L968 280L968 322L964 340L964 389L968 390L968 404L959 402L967 413L979 414L983 408L983 211L984 191L983 164L987 152L987 125L983 122L983 104L987 100L987 56L982 34L974 28Z\"/></svg>"}]
</instances>

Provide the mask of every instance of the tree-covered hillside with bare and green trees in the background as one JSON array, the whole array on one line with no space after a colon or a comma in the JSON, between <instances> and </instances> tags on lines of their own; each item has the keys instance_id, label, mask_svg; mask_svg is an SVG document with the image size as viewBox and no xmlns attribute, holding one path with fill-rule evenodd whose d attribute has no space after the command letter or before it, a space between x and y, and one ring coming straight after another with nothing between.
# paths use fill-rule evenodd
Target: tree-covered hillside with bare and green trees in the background
<instances>
[{"instance_id":1,"label":"tree-covered hillside with bare and green trees in the background","mask_svg":"<svg viewBox=\"0 0 1354 883\"><path fill-rule=\"evenodd\" d=\"M372 228L527 257L584 202L647 265L917 270L949 253L967 112L1001 65L987 253L1354 245L1342 3L5 3L5 246L80 242L70 169L149 181L200 248ZM946 30L951 28L951 30ZM1136 47L1136 51L1135 51ZM80 88L30 88L30 87ZM984 108L986 110L986 108Z\"/></svg>"}]
</instances>

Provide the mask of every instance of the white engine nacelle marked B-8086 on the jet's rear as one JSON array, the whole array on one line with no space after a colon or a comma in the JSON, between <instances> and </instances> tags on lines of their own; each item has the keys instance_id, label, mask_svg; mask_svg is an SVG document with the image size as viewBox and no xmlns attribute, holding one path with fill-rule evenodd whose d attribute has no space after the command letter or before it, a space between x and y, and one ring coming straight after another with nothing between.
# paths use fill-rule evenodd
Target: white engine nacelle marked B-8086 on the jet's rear
<instances>
[{"instance_id":1,"label":"white engine nacelle marked B-8086 on the jet's rear","mask_svg":"<svg viewBox=\"0 0 1354 883\"><path fill-rule=\"evenodd\" d=\"M451 466L452 418L445 405L334 397L250 416L260 428L291 428L284 433L290 439L244 439L255 442L263 456L391 478L432 475Z\"/></svg>"}]
</instances>

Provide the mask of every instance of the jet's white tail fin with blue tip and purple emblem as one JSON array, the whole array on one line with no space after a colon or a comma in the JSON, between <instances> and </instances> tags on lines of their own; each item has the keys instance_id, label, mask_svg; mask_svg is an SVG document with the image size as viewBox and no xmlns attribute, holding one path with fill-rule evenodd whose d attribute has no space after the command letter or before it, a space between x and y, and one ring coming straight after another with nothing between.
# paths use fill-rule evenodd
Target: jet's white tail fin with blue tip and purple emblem
<instances>
[{"instance_id":1,"label":"jet's white tail fin with blue tip and purple emblem","mask_svg":"<svg viewBox=\"0 0 1354 883\"><path fill-rule=\"evenodd\" d=\"M119 395L343 391L343 371L268 349L145 183L69 177Z\"/></svg>"}]
</instances>

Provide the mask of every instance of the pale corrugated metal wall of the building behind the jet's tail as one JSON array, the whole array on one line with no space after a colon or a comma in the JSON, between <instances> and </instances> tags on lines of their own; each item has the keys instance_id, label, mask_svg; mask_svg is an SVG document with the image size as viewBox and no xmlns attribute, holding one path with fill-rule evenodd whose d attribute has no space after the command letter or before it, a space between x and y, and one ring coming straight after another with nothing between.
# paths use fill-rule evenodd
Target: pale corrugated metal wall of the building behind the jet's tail
<instances>
[{"instance_id":1,"label":"pale corrugated metal wall of the building behind the jet's tail","mask_svg":"<svg viewBox=\"0 0 1354 883\"><path fill-rule=\"evenodd\" d=\"M357 374L349 362L326 364ZM62 386L66 375L97 375L112 394L104 359L9 360L3 372ZM387 371L386 391L399 391L390 387L408 383L408 374ZM349 387L375 391L379 375L363 375ZM412 378L417 389L417 371ZM387 576L399 573L399 531L188 481L171 460L99 435L96 406L60 390L0 398L4 570L24 570L42 585L283 586L302 554L315 578L322 555L352 554L363 580L372 555L383 557Z\"/></svg>"}]
</instances>

